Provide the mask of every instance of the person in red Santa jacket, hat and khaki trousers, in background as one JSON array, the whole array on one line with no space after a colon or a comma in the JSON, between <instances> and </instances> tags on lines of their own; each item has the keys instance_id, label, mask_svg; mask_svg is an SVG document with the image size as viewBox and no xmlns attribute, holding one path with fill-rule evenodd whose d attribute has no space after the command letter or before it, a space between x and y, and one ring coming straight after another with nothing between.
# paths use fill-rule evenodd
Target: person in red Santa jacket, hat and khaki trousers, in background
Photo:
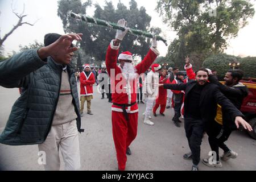
<instances>
[{"instance_id":1,"label":"person in red Santa jacket, hat and khaki trousers, in background","mask_svg":"<svg viewBox=\"0 0 256 182\"><path fill-rule=\"evenodd\" d=\"M90 110L91 101L93 99L93 84L95 78L93 72L90 71L89 64L85 64L84 71L80 73L80 100L81 100L81 117L84 113L84 103L87 101L87 114L93 115Z\"/></svg>"}]
</instances>

